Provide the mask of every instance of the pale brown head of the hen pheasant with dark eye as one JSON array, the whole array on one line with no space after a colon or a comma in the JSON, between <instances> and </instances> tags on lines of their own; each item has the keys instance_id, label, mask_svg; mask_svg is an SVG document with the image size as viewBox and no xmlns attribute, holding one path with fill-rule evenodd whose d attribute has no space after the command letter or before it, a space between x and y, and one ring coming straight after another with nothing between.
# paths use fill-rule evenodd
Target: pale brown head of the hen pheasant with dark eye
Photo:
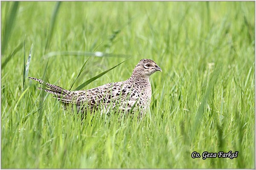
<instances>
[{"instance_id":1,"label":"pale brown head of the hen pheasant with dark eye","mask_svg":"<svg viewBox=\"0 0 256 170\"><path fill-rule=\"evenodd\" d=\"M132 74L137 77L149 78L149 76L156 71L162 72L162 69L157 65L156 62L151 59L142 59L135 66Z\"/></svg>"}]
</instances>

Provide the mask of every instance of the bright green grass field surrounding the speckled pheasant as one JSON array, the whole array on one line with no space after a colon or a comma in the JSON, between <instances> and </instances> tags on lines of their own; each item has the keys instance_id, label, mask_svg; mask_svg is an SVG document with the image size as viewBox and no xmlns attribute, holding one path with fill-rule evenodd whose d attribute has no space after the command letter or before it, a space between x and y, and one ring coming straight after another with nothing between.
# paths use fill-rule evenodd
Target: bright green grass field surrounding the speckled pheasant
<instances>
[{"instance_id":1,"label":"bright green grass field surrounding the speckled pheasant","mask_svg":"<svg viewBox=\"0 0 256 170\"><path fill-rule=\"evenodd\" d=\"M1 168L254 169L254 11L255 2L1 2ZM26 78L74 90L113 68L88 89L128 79L142 58L163 72L151 76L141 121L81 122ZM191 157L230 150L238 157Z\"/></svg>"}]
</instances>

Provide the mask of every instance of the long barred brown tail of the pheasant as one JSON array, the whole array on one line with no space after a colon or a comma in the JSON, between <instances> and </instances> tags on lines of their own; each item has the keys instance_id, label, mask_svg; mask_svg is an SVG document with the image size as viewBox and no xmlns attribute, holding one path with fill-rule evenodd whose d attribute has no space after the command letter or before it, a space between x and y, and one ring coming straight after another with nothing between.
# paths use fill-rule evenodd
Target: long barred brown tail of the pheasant
<instances>
[{"instance_id":1,"label":"long barred brown tail of the pheasant","mask_svg":"<svg viewBox=\"0 0 256 170\"><path fill-rule=\"evenodd\" d=\"M38 89L46 91L50 94L54 94L55 96L53 96L53 97L57 98L58 100L61 100L61 102L74 103L74 99L73 99L73 95L72 95L71 91L65 90L64 88L61 88L57 85L49 84L49 83L44 82L43 80L37 79L35 77L29 77L29 79L35 80L35 81L39 82L40 84L44 84L43 88L38 88Z\"/></svg>"}]
</instances>

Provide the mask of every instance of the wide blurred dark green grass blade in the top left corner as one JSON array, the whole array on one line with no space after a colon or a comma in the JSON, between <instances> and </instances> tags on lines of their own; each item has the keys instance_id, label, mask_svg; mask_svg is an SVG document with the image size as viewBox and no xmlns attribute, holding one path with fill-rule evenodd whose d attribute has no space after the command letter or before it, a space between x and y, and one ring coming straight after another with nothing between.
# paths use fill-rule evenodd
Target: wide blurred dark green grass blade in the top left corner
<instances>
[{"instance_id":1,"label":"wide blurred dark green grass blade in the top left corner","mask_svg":"<svg viewBox=\"0 0 256 170\"><path fill-rule=\"evenodd\" d=\"M9 37L12 33L12 28L14 27L15 19L17 16L17 10L19 6L19 1L15 1L12 5L12 9L10 11L9 16L6 19L6 23L3 30L3 39L1 41L1 54L3 55L6 49L6 46L8 45Z\"/></svg>"}]
</instances>

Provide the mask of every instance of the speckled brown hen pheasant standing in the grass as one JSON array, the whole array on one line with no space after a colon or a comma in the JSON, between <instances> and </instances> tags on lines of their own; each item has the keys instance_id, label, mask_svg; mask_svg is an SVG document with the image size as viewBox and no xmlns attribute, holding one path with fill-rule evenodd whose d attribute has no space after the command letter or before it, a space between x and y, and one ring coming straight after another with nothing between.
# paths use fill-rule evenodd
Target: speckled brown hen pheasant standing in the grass
<instances>
[{"instance_id":1,"label":"speckled brown hen pheasant standing in the grass","mask_svg":"<svg viewBox=\"0 0 256 170\"><path fill-rule=\"evenodd\" d=\"M151 59L141 59L135 66L131 77L122 82L111 82L96 88L79 91L68 91L57 85L35 80L42 87L39 90L53 94L64 105L76 105L78 113L90 114L100 110L100 114L111 111L122 114L138 111L140 117L147 111L151 103L151 84L149 77L162 69Z\"/></svg>"}]
</instances>

